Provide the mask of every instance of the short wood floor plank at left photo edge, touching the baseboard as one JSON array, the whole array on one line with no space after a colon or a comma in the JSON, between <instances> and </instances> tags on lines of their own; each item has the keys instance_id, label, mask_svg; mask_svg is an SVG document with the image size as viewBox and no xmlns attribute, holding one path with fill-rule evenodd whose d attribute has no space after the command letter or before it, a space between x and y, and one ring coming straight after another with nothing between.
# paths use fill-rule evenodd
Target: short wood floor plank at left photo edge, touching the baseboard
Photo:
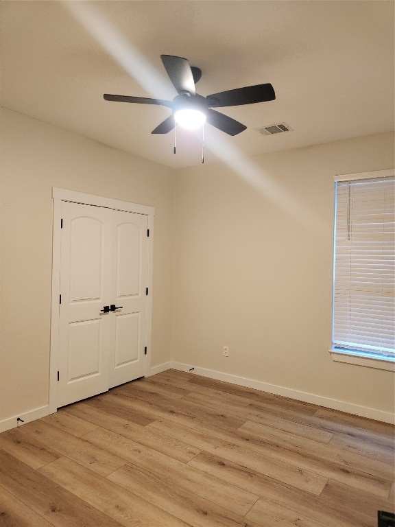
<instances>
[{"instance_id":1,"label":"short wood floor plank at left photo edge, touching the baseboard","mask_svg":"<svg viewBox=\"0 0 395 527\"><path fill-rule=\"evenodd\" d=\"M43 443L36 441L35 438L23 434L24 426L26 425L0 434L0 449L26 463L32 469L43 467L43 465L47 465L47 463L60 457L58 452L55 452L47 445L43 445Z\"/></svg>"}]
</instances>

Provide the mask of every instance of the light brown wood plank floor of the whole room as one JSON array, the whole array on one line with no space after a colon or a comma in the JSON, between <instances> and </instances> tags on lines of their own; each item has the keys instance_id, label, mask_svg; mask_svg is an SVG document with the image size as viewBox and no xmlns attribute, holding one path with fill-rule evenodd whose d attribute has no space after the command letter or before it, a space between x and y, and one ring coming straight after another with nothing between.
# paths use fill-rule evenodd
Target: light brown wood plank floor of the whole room
<instances>
[{"instance_id":1,"label":"light brown wood plank floor of the whole room","mask_svg":"<svg viewBox=\"0 0 395 527\"><path fill-rule=\"evenodd\" d=\"M376 527L394 427L169 370L0 434L1 527Z\"/></svg>"}]
</instances>

